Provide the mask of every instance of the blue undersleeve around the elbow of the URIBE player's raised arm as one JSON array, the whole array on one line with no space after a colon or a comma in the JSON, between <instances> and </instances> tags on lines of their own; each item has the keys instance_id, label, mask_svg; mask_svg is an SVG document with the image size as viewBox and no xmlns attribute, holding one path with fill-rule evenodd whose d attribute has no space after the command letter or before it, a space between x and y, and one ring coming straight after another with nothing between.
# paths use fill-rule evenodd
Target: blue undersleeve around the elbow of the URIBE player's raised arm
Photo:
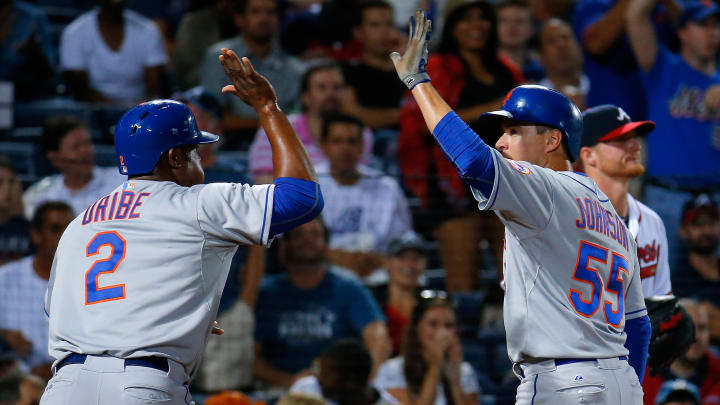
<instances>
[{"instance_id":1,"label":"blue undersleeve around the elbow of the URIBE player's raised arm","mask_svg":"<svg viewBox=\"0 0 720 405\"><path fill-rule=\"evenodd\" d=\"M294 177L275 179L270 237L311 221L325 206L320 185Z\"/></svg>"}]
</instances>

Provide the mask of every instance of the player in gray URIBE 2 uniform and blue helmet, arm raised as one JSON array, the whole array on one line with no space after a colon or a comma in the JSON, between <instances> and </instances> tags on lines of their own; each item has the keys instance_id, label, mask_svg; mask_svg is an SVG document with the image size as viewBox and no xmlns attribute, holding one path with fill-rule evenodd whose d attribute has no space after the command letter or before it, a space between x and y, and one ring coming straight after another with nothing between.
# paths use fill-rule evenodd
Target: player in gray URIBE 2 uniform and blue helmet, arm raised
<instances>
[{"instance_id":1,"label":"player in gray URIBE 2 uniform and blue helmet, arm raised","mask_svg":"<svg viewBox=\"0 0 720 405\"><path fill-rule=\"evenodd\" d=\"M115 130L128 181L68 226L45 308L54 377L41 403L189 404L188 383L212 328L238 244L273 237L323 207L310 159L247 58L219 56L222 91L257 111L273 148L273 184L203 185L197 129L182 103L155 100Z\"/></svg>"}]
</instances>

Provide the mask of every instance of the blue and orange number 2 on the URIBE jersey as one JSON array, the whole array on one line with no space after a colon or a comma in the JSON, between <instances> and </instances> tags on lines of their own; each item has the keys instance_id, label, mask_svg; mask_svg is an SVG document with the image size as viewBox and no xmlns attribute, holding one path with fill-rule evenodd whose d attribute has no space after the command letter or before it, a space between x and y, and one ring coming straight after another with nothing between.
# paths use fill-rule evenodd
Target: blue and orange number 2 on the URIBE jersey
<instances>
[{"instance_id":1,"label":"blue and orange number 2 on the URIBE jersey","mask_svg":"<svg viewBox=\"0 0 720 405\"><path fill-rule=\"evenodd\" d=\"M125 284L100 287L98 278L117 270L125 259L126 245L125 239L115 231L100 232L90 240L85 248L85 257L95 256L103 246L110 247L110 256L95 260L85 273L85 305L125 298Z\"/></svg>"}]
</instances>

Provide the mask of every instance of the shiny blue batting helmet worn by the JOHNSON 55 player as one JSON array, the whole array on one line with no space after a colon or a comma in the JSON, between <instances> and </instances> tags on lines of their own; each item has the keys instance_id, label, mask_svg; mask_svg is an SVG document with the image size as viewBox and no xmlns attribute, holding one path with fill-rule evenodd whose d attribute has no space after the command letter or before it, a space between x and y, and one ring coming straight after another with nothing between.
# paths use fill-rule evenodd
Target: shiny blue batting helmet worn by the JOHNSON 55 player
<instances>
[{"instance_id":1,"label":"shiny blue batting helmet worn by the JOHNSON 55 player","mask_svg":"<svg viewBox=\"0 0 720 405\"><path fill-rule=\"evenodd\" d=\"M582 114L575 103L559 91L537 85L518 86L505 96L501 110L480 115L479 124L493 134L501 133L502 121L509 118L557 128L570 160L580 153Z\"/></svg>"}]
</instances>

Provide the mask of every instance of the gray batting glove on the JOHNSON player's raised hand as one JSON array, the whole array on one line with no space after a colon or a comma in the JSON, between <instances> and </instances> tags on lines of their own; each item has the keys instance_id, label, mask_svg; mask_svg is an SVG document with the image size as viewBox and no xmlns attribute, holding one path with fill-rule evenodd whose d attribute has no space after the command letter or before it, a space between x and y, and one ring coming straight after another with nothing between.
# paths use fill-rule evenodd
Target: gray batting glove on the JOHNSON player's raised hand
<instances>
[{"instance_id":1,"label":"gray batting glove on the JOHNSON player's raised hand","mask_svg":"<svg viewBox=\"0 0 720 405\"><path fill-rule=\"evenodd\" d=\"M430 81L425 66L428 60L427 42L431 25L432 22L425 17L422 10L416 11L415 16L410 17L410 32L405 55L400 56L397 52L390 54L398 77L410 90L420 83Z\"/></svg>"}]
</instances>

